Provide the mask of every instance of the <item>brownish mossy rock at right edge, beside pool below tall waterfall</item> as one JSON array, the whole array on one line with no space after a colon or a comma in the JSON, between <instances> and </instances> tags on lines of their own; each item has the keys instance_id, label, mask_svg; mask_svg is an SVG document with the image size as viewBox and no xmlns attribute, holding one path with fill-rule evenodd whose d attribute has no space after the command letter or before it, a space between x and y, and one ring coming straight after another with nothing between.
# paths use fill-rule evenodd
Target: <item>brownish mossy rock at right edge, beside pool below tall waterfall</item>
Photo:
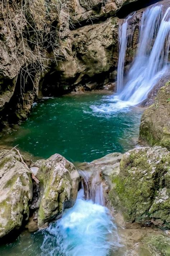
<instances>
[{"instance_id":1,"label":"brownish mossy rock at right edge, beside pool below tall waterfall","mask_svg":"<svg viewBox=\"0 0 170 256\"><path fill-rule=\"evenodd\" d=\"M155 103L143 113L140 138L170 150L170 81L161 87Z\"/></svg>"}]
</instances>

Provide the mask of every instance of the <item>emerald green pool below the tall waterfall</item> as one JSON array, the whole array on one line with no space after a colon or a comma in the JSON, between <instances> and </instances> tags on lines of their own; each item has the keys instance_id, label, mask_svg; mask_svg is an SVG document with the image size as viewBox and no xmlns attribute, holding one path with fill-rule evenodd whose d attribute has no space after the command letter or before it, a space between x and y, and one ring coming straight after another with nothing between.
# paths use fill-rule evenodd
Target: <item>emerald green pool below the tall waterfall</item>
<instances>
[{"instance_id":1,"label":"emerald green pool below the tall waterfall","mask_svg":"<svg viewBox=\"0 0 170 256\"><path fill-rule=\"evenodd\" d=\"M135 145L142 111L104 112L100 106L107 105L110 97L88 93L42 99L28 120L5 138L34 156L59 153L72 162L125 152Z\"/></svg>"}]
</instances>

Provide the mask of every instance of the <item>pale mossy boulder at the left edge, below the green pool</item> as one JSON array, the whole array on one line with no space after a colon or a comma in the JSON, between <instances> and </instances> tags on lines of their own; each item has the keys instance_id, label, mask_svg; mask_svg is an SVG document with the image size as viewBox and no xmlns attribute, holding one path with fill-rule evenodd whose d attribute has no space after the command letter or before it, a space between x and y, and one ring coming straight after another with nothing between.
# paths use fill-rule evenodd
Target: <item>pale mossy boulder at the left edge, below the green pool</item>
<instances>
[{"instance_id":1,"label":"pale mossy boulder at the left edge, below the green pool","mask_svg":"<svg viewBox=\"0 0 170 256\"><path fill-rule=\"evenodd\" d=\"M29 216L30 172L14 151L0 152L0 237L18 229Z\"/></svg>"}]
</instances>

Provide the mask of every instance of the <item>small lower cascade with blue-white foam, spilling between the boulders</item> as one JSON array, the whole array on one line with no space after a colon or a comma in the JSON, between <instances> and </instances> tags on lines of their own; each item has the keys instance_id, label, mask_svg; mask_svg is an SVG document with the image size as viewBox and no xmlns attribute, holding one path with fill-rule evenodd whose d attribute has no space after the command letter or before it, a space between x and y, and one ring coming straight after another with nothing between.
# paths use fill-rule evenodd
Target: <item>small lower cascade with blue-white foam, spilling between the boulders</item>
<instances>
[{"instance_id":1,"label":"small lower cascade with blue-white foam, spilling between the boulders","mask_svg":"<svg viewBox=\"0 0 170 256\"><path fill-rule=\"evenodd\" d=\"M106 256L109 251L120 247L116 226L104 205L100 176L91 179L91 172L80 171L85 191L78 192L74 207L66 210L62 219L50 224L44 231L41 246L43 256ZM93 185L98 188L92 189ZM92 190L93 191L92 191ZM99 196L99 193L101 195ZM97 201L97 202L96 202Z\"/></svg>"}]
</instances>

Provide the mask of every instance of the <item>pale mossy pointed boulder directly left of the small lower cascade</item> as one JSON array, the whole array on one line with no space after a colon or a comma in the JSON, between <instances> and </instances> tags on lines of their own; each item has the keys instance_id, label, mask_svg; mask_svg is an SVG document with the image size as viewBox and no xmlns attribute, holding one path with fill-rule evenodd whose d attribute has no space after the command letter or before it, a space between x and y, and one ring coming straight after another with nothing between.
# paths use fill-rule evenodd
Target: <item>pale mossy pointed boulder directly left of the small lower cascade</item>
<instances>
[{"instance_id":1,"label":"pale mossy pointed boulder directly left of the small lower cascade","mask_svg":"<svg viewBox=\"0 0 170 256\"><path fill-rule=\"evenodd\" d=\"M38 227L42 228L61 215L64 208L74 205L80 178L75 166L60 154L42 161L37 178L42 188L38 210Z\"/></svg>"}]
</instances>

